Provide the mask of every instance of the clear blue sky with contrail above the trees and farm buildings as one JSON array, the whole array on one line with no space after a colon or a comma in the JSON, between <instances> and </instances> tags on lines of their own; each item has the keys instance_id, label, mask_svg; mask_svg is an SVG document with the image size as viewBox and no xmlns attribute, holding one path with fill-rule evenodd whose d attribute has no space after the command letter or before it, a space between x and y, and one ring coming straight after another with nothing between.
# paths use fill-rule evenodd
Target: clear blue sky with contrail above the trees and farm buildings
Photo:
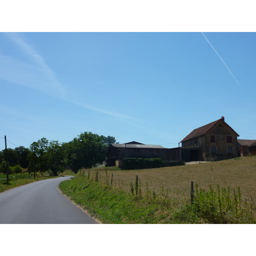
<instances>
[{"instance_id":1,"label":"clear blue sky with contrail above the trees and farm buildings","mask_svg":"<svg viewBox=\"0 0 256 256\"><path fill-rule=\"evenodd\" d=\"M1 32L0 137L173 148L224 116L256 139L255 70L255 32Z\"/></svg>"}]
</instances>

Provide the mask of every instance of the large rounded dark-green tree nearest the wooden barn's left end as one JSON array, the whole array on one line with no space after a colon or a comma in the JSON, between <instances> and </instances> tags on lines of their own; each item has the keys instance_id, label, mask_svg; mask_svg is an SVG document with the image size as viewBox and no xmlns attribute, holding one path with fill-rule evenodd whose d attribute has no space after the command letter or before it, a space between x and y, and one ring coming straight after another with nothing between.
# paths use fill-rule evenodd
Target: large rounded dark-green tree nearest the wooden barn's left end
<instances>
[{"instance_id":1,"label":"large rounded dark-green tree nearest the wooden barn's left end","mask_svg":"<svg viewBox=\"0 0 256 256\"><path fill-rule=\"evenodd\" d=\"M65 143L67 164L74 172L81 168L92 168L103 163L107 145L98 134L81 133L69 143Z\"/></svg>"}]
</instances>

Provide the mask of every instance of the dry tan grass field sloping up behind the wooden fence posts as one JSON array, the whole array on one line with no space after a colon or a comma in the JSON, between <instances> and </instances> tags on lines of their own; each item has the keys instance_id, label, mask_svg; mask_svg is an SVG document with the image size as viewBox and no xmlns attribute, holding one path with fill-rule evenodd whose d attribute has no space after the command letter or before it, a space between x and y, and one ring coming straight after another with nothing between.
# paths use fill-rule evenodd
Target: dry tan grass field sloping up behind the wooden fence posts
<instances>
[{"instance_id":1,"label":"dry tan grass field sloping up behind the wooden fence posts","mask_svg":"<svg viewBox=\"0 0 256 256\"><path fill-rule=\"evenodd\" d=\"M98 171L99 180L106 177L104 168L90 169L90 178L95 177ZM88 174L88 171L84 175ZM118 170L108 171L110 182L113 173L113 186L131 192L130 183L135 183L136 175L140 180L142 193L148 189L161 193L162 186L164 192L168 189L168 195L177 203L190 198L191 181L198 184L199 189L209 190L209 185L216 189L230 187L233 189L240 187L242 199L252 198L256 200L256 157L242 157L240 159L230 159L218 162L208 162L200 164L190 164L185 166L165 167L159 169L143 170Z\"/></svg>"}]
</instances>

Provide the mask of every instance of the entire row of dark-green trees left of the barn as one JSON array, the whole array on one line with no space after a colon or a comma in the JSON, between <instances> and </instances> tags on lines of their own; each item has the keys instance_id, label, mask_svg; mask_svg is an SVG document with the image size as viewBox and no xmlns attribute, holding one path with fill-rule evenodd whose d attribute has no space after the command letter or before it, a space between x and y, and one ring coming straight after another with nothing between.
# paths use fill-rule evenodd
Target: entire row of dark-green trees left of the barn
<instances>
[{"instance_id":1,"label":"entire row of dark-green trees left of the barn","mask_svg":"<svg viewBox=\"0 0 256 256\"><path fill-rule=\"evenodd\" d=\"M107 148L116 143L115 137L84 132L68 143L41 138L33 142L29 148L23 146L15 149L7 148L8 164L11 172L20 172L22 168L32 172L49 172L57 176L69 166L77 173L81 168L92 168L102 164ZM6 172L6 151L0 151L0 172ZM14 168L16 166L16 168ZM17 171L19 169L19 171Z\"/></svg>"}]
</instances>

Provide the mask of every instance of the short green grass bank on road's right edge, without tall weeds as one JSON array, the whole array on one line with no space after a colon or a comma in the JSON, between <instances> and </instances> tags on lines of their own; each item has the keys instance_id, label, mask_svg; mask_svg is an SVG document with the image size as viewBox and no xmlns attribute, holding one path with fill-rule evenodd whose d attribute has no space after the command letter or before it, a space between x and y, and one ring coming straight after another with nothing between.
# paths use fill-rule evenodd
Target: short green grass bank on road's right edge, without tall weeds
<instances>
[{"instance_id":1,"label":"short green grass bank on road's right edge, without tall weeds","mask_svg":"<svg viewBox=\"0 0 256 256\"><path fill-rule=\"evenodd\" d=\"M61 191L89 215L105 224L159 223L164 211L157 204L147 204L132 195L110 185L97 183L81 177L65 180L59 185Z\"/></svg>"}]
</instances>

